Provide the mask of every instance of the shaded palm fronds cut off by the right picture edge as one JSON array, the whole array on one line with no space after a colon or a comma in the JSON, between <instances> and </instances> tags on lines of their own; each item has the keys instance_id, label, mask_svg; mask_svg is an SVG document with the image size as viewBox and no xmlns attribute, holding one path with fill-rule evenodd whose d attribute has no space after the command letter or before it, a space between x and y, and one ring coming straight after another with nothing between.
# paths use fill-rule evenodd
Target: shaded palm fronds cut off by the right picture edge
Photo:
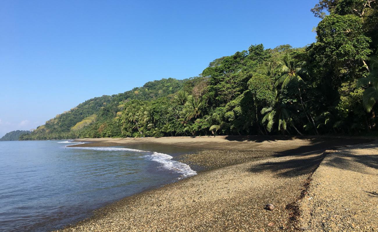
<instances>
[{"instance_id":1,"label":"shaded palm fronds cut off by the right picture edge","mask_svg":"<svg viewBox=\"0 0 378 232\"><path fill-rule=\"evenodd\" d=\"M378 101L378 57L371 59L370 74L368 77L358 79L358 86L369 85L364 90L363 104L367 112L372 111L373 106Z\"/></svg>"}]
</instances>

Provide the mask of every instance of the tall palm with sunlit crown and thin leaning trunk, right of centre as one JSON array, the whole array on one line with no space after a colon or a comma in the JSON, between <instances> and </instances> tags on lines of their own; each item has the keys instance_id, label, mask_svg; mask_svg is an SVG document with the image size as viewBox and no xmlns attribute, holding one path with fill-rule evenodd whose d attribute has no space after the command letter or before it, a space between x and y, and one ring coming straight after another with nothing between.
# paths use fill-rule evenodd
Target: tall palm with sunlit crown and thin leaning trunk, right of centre
<instances>
[{"instance_id":1,"label":"tall palm with sunlit crown and thin leaning trunk, right of centre","mask_svg":"<svg viewBox=\"0 0 378 232\"><path fill-rule=\"evenodd\" d=\"M280 77L278 78L278 80L274 84L276 86L276 88L280 84L282 84L281 88L285 88L285 86L288 83L293 82L293 81L297 82L297 83L303 82L302 77L308 76L308 71L305 68L306 65L307 65L306 61L296 62L288 54L286 54L285 57L283 58L283 65L281 66L281 69L278 73L278 75ZM299 85L298 85L298 92L299 92L299 100L301 100L301 106L302 106L303 111L305 112L307 120L308 120L308 122L310 122L310 124L311 123L313 124L316 134L319 134L318 130L316 129L315 121L314 121L313 117L311 116L311 114L308 114L306 109L305 109L305 104L302 100L302 92L301 92L301 88L300 88ZM308 117L308 115L310 115L310 117ZM311 118L311 120L310 120L310 118Z\"/></svg>"}]
</instances>

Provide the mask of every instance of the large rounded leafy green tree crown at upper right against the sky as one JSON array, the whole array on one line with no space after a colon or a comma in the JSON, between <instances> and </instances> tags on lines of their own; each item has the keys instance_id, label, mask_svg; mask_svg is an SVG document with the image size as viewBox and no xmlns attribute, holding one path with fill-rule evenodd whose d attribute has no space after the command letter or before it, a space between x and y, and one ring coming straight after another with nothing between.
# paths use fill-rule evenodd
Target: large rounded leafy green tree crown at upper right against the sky
<instances>
[{"instance_id":1,"label":"large rounded leafy green tree crown at upper right against the sky","mask_svg":"<svg viewBox=\"0 0 378 232\"><path fill-rule=\"evenodd\" d=\"M354 15L329 15L316 29L313 45L316 65L331 69L335 78L356 78L366 71L364 61L372 52L371 39L363 34L361 19Z\"/></svg>"}]
</instances>

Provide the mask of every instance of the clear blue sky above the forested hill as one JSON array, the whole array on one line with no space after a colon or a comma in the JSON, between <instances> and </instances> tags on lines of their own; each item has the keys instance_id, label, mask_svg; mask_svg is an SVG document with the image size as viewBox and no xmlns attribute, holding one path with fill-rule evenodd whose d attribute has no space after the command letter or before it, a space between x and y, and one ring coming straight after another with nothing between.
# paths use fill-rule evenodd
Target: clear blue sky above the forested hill
<instances>
[{"instance_id":1,"label":"clear blue sky above the forested hill","mask_svg":"<svg viewBox=\"0 0 378 232\"><path fill-rule=\"evenodd\" d=\"M316 2L0 1L0 137L251 44L305 46Z\"/></svg>"}]
</instances>

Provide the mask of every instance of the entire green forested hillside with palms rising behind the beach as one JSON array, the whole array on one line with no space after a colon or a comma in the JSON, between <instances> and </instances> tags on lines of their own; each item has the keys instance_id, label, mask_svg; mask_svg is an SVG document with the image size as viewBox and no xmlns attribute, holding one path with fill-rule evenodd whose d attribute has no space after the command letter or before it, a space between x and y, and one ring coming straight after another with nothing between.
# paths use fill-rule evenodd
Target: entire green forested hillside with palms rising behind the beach
<instances>
[{"instance_id":1,"label":"entire green forested hillside with palms rising behind the beach","mask_svg":"<svg viewBox=\"0 0 378 232\"><path fill-rule=\"evenodd\" d=\"M376 134L377 2L321 0L304 48L251 45L199 77L85 101L20 139Z\"/></svg>"}]
</instances>

